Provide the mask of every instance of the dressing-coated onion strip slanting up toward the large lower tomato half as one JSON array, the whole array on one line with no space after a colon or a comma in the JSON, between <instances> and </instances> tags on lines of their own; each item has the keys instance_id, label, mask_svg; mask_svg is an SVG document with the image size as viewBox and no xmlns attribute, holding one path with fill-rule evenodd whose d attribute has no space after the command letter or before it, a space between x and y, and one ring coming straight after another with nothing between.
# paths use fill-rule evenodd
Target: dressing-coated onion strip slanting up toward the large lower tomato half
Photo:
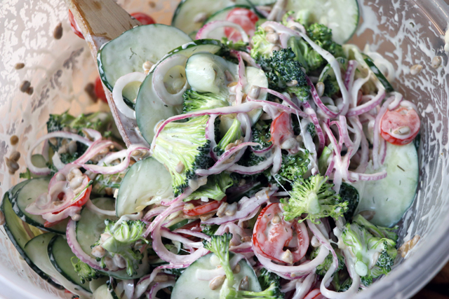
<instances>
[{"instance_id":1,"label":"dressing-coated onion strip slanting up toward the large lower tomato half","mask_svg":"<svg viewBox=\"0 0 449 299\"><path fill-rule=\"evenodd\" d=\"M269 197L272 196L276 192L275 189L269 190L268 188L264 188L257 192L255 196L248 198L247 200L240 200L237 203L237 211L233 216L223 216L223 217L214 217L210 218L206 221L203 221L205 224L223 224L228 222L234 222L240 220L241 218L245 218L248 215L252 214L254 210L259 209L261 204L268 202Z\"/></svg>"}]
</instances>

